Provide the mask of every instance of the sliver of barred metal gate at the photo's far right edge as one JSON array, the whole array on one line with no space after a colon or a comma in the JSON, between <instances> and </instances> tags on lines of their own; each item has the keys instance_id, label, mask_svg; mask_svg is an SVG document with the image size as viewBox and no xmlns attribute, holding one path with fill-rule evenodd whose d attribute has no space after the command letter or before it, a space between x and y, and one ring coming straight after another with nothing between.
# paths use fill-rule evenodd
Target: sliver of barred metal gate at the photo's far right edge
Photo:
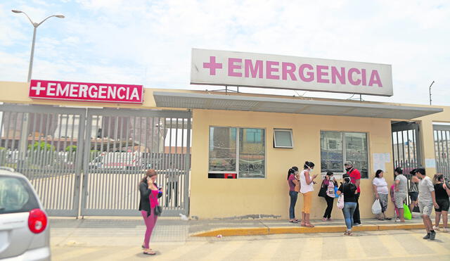
<instances>
[{"instance_id":1,"label":"sliver of barred metal gate at the photo's far right edge","mask_svg":"<svg viewBox=\"0 0 450 261\"><path fill-rule=\"evenodd\" d=\"M433 125L435 136L436 171L450 178L450 126Z\"/></svg>"}]
</instances>

